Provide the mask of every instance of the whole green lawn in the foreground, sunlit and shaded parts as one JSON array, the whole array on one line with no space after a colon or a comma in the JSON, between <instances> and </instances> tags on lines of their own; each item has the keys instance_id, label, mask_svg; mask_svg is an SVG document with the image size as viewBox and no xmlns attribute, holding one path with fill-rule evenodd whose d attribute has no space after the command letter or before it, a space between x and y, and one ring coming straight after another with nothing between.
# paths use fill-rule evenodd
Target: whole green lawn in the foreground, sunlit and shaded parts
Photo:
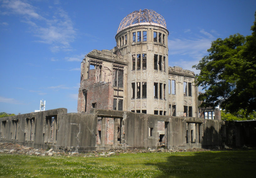
<instances>
[{"instance_id":1,"label":"whole green lawn in the foreground, sunlit and shaded parts","mask_svg":"<svg viewBox=\"0 0 256 178\"><path fill-rule=\"evenodd\" d=\"M256 151L127 153L110 157L0 154L0 177L256 177Z\"/></svg>"}]
</instances>

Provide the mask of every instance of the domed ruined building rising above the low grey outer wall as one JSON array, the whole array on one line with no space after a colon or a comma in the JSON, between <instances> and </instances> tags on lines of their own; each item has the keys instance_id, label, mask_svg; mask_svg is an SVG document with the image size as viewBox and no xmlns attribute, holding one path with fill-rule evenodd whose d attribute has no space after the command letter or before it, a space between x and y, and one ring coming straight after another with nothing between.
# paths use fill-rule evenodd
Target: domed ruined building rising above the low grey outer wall
<instances>
[{"instance_id":1,"label":"domed ruined building rising above the low grey outer wall","mask_svg":"<svg viewBox=\"0 0 256 178\"><path fill-rule=\"evenodd\" d=\"M198 117L195 73L168 67L168 34L155 11L127 15L118 27L116 47L94 49L83 59L77 111Z\"/></svg>"}]
</instances>

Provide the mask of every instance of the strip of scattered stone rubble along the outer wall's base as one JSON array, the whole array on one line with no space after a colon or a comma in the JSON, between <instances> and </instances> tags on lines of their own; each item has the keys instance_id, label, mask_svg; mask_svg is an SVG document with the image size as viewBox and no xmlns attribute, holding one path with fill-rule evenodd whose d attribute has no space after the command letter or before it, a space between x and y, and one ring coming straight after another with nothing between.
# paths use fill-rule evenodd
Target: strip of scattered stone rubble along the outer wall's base
<instances>
[{"instance_id":1,"label":"strip of scattered stone rubble along the outer wall's base","mask_svg":"<svg viewBox=\"0 0 256 178\"><path fill-rule=\"evenodd\" d=\"M148 152L185 152L185 151L213 151L203 148L193 149L127 149L127 150L109 150L109 151L92 151L90 153L78 153L64 150L43 150L22 146L13 143L0 143L0 154L17 154L17 155L35 155L35 156L83 156L83 157L108 157L111 155L120 155L120 153L148 153Z\"/></svg>"}]
</instances>

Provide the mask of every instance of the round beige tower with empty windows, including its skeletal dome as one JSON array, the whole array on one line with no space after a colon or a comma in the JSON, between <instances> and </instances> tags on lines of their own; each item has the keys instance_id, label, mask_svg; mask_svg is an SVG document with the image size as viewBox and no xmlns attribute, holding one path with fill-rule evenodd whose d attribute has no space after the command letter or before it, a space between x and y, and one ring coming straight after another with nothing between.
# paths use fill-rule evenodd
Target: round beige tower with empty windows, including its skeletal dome
<instances>
[{"instance_id":1,"label":"round beige tower with empty windows, including its skeletal dome","mask_svg":"<svg viewBox=\"0 0 256 178\"><path fill-rule=\"evenodd\" d=\"M126 110L168 115L168 30L153 10L134 11L120 23L117 50L127 58Z\"/></svg>"}]
</instances>

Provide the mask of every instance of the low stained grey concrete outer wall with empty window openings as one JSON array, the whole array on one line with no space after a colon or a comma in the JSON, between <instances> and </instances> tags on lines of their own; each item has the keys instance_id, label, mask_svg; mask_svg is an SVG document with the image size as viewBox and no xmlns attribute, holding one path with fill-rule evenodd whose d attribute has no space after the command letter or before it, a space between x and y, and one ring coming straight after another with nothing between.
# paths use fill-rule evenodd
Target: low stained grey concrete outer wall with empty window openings
<instances>
[{"instance_id":1,"label":"low stained grey concrete outer wall with empty window openings","mask_svg":"<svg viewBox=\"0 0 256 178\"><path fill-rule=\"evenodd\" d=\"M59 108L1 118L0 141L72 151L206 148L223 146L222 127L224 121L196 117L104 109L67 113Z\"/></svg>"}]
</instances>

